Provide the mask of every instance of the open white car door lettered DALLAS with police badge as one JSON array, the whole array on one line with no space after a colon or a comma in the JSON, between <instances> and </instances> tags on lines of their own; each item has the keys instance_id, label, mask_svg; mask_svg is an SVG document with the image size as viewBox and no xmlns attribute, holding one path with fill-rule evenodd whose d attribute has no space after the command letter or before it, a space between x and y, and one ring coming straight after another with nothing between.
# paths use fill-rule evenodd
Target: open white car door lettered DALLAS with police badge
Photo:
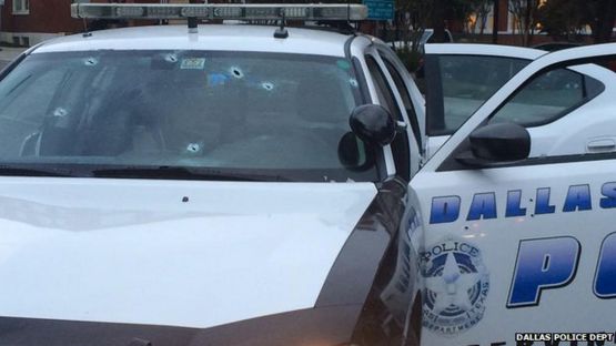
<instances>
[{"instance_id":1,"label":"open white car door lettered DALLAS with police badge","mask_svg":"<svg viewBox=\"0 0 616 346\"><path fill-rule=\"evenodd\" d=\"M599 58L616 60L616 44L555 52L532 62L411 181L410 207L420 215L412 241L421 263L422 345L614 344L555 343L541 335L523 340L516 333L615 329L616 154L468 159L483 155L476 139L485 133L479 132L497 128L499 110L512 106L526 85L562 68L603 63L595 61ZM604 126L616 128L616 101L603 110L612 115ZM522 131L531 143L541 135ZM584 140L582 133L573 135Z\"/></svg>"}]
</instances>

